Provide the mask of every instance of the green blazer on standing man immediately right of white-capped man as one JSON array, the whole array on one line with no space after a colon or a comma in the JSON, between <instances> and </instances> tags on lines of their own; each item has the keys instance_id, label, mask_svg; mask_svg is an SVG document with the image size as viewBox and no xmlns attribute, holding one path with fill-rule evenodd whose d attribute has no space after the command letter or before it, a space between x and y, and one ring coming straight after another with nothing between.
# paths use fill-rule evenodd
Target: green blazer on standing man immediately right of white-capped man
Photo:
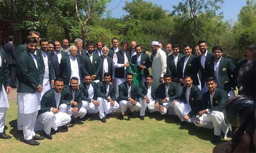
<instances>
[{"instance_id":1,"label":"green blazer on standing man immediately right of white-capped man","mask_svg":"<svg viewBox=\"0 0 256 153\"><path fill-rule=\"evenodd\" d=\"M185 55L179 53L178 54L178 62L177 62L177 67L175 66L174 62L174 56L173 54L167 56L167 68L166 68L166 73L169 73L172 75L172 79L178 77L178 70L179 70L179 65L180 65L180 59L184 57ZM177 71L176 71L177 70ZM183 68L182 68L183 70Z\"/></svg>"}]
</instances>

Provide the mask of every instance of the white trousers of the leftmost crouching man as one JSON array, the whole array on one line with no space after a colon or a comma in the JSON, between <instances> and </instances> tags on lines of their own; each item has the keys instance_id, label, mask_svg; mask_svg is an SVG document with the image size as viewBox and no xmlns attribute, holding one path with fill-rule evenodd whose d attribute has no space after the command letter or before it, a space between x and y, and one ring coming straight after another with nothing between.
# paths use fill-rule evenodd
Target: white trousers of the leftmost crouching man
<instances>
[{"instance_id":1,"label":"white trousers of the leftmost crouching man","mask_svg":"<svg viewBox=\"0 0 256 153\"><path fill-rule=\"evenodd\" d=\"M55 131L58 127L66 125L71 121L71 117L67 113L56 113L52 111L41 113L36 119L35 131L43 130L48 135L51 133L51 128Z\"/></svg>"}]
</instances>

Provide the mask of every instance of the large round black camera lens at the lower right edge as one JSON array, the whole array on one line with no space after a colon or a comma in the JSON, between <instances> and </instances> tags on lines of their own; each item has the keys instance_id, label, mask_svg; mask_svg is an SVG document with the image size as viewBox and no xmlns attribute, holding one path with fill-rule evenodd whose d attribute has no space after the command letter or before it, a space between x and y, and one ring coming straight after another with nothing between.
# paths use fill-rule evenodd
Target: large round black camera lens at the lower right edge
<instances>
[{"instance_id":1,"label":"large round black camera lens at the lower right edge","mask_svg":"<svg viewBox=\"0 0 256 153\"><path fill-rule=\"evenodd\" d=\"M252 98L239 95L231 98L225 107L225 119L236 127L240 127L245 120L254 117L255 104Z\"/></svg>"}]
</instances>

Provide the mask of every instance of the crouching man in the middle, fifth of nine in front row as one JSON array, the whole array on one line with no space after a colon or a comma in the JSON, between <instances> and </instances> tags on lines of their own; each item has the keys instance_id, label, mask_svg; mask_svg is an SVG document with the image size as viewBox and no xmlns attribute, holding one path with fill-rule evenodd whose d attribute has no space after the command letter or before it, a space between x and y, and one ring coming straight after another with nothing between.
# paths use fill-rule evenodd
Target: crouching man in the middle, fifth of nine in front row
<instances>
[{"instance_id":1,"label":"crouching man in the middle, fifth of nine in front row","mask_svg":"<svg viewBox=\"0 0 256 153\"><path fill-rule=\"evenodd\" d=\"M120 120L124 120L124 111L126 108L128 115L132 117L132 112L140 109L141 106L137 98L137 86L132 83L133 74L128 72L126 73L125 78L126 81L118 86L119 97L117 98L117 101L121 107Z\"/></svg>"}]
</instances>

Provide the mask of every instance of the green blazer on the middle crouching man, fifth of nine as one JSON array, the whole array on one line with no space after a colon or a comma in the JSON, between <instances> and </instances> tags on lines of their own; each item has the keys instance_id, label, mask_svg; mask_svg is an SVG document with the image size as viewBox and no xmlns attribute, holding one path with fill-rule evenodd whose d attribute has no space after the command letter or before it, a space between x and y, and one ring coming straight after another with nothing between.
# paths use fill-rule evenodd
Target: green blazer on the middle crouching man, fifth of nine
<instances>
[{"instance_id":1,"label":"green blazer on the middle crouching man, fifth of nine","mask_svg":"<svg viewBox=\"0 0 256 153\"><path fill-rule=\"evenodd\" d=\"M121 100L129 101L129 97L127 97L128 96L128 88L127 88L126 81L118 86L118 92L119 92L119 97L117 98L117 102L120 102ZM131 98L133 100L139 102L138 98L137 98L137 93L138 93L137 85L132 83Z\"/></svg>"}]
</instances>

